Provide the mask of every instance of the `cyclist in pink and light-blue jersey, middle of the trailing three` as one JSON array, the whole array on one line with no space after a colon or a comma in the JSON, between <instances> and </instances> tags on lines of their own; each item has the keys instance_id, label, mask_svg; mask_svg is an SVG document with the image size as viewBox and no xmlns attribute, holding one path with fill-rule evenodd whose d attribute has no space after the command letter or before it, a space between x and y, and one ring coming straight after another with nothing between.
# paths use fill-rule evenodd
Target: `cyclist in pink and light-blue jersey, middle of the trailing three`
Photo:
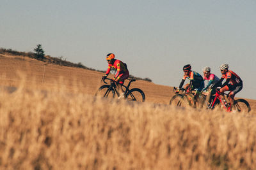
<instances>
[{"instance_id":1,"label":"cyclist in pink and light-blue jersey, middle of the trailing three","mask_svg":"<svg viewBox=\"0 0 256 170\"><path fill-rule=\"evenodd\" d=\"M204 74L204 80L208 81L208 84L204 87L202 92L204 92L204 90L207 90L207 92L206 92L207 101L209 101L212 94L216 93L216 90L212 89L211 87L213 87L215 85L215 83L217 83L220 80L220 78L218 78L218 76L216 76L215 74L211 73L210 67L204 67L202 71ZM221 86L221 83L218 83L218 85L216 85L216 87L220 87L220 86Z\"/></svg>"}]
</instances>

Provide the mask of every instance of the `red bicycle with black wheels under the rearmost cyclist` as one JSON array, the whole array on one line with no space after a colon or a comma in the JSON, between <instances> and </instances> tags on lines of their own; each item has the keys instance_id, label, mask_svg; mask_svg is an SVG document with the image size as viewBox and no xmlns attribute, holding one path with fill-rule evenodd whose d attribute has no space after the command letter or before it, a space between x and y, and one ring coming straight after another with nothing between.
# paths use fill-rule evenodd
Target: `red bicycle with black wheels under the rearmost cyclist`
<instances>
[{"instance_id":1,"label":"red bicycle with black wheels under the rearmost cyclist","mask_svg":"<svg viewBox=\"0 0 256 170\"><path fill-rule=\"evenodd\" d=\"M224 110L230 112L230 111L237 111L237 112L250 112L251 107L248 101L244 99L236 99L234 101L234 104L232 105L231 103L227 103L227 100L225 99L225 96L227 97L228 94L224 93L224 99L221 98L220 95L220 89L216 89L216 94L215 97L211 96L210 102L209 102L209 109L214 109L216 106L221 106Z\"/></svg>"}]
</instances>

